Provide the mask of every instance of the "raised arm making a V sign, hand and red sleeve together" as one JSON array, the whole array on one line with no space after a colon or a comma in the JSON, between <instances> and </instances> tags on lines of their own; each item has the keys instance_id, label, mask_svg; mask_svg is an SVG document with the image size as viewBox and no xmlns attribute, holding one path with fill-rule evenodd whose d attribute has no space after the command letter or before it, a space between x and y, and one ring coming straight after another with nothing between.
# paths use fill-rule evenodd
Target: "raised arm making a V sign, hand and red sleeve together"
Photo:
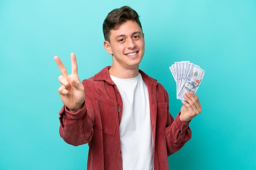
<instances>
[{"instance_id":1,"label":"raised arm making a V sign, hand and red sleeve together","mask_svg":"<svg viewBox=\"0 0 256 170\"><path fill-rule=\"evenodd\" d=\"M74 146L88 143L93 135L94 112L86 109L86 107L92 107L90 102L85 102L85 88L77 74L76 57L74 53L71 54L72 74L70 75L67 74L65 66L57 56L54 60L62 73L62 76L59 76L61 87L58 89L64 104L59 112L60 135L65 142ZM90 99L90 95L87 99Z\"/></svg>"}]
</instances>

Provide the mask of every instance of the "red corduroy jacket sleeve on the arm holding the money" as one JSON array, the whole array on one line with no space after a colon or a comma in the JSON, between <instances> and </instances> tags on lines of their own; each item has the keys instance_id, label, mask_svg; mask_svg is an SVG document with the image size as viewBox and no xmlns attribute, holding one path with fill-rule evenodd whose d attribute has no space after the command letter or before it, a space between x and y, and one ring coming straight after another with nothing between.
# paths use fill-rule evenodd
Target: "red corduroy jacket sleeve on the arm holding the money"
<instances>
[{"instance_id":1,"label":"red corduroy jacket sleeve on the arm holding the money","mask_svg":"<svg viewBox=\"0 0 256 170\"><path fill-rule=\"evenodd\" d=\"M180 113L174 119L169 111L169 99L166 90L164 90L167 102L167 123L166 123L166 147L168 156L177 152L184 144L191 139L191 129L189 122L180 120Z\"/></svg>"}]
</instances>

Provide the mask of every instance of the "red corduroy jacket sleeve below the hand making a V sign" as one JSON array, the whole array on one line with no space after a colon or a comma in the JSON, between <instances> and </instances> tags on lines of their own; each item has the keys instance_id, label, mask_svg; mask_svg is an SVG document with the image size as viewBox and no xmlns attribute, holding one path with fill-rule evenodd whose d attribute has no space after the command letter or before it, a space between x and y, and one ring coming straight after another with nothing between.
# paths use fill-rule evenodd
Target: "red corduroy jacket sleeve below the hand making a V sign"
<instances>
[{"instance_id":1,"label":"red corduroy jacket sleeve below the hand making a V sign","mask_svg":"<svg viewBox=\"0 0 256 170\"><path fill-rule=\"evenodd\" d=\"M95 112L89 91L90 89L85 87L85 102L82 109L72 113L64 105L59 112L59 133L68 144L79 146L89 143L92 139Z\"/></svg>"}]
</instances>

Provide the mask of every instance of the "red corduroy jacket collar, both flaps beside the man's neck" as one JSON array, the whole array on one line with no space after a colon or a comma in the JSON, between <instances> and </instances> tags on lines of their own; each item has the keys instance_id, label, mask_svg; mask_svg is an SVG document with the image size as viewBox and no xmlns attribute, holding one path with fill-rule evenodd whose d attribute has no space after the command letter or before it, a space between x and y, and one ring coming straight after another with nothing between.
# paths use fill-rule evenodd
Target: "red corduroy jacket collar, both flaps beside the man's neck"
<instances>
[{"instance_id":1,"label":"red corduroy jacket collar, both flaps beside the man's neck","mask_svg":"<svg viewBox=\"0 0 256 170\"><path fill-rule=\"evenodd\" d=\"M108 70L110 68L111 68L111 66L107 66L107 67L103 68L99 73L95 74L94 81L106 81L107 83L109 83L111 85L115 85L115 83L110 78L110 74L108 72ZM143 80L146 82L146 84L151 82L151 83L157 85L157 80L156 79L148 76L146 73L144 73L141 70L139 70L139 73L141 74L141 76L142 76Z\"/></svg>"}]
</instances>

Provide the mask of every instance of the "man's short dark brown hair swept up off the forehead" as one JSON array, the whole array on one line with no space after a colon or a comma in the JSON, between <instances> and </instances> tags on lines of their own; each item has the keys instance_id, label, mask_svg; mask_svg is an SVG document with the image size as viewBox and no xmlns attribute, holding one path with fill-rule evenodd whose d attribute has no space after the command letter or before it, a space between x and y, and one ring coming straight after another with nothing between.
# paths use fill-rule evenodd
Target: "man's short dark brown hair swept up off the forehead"
<instances>
[{"instance_id":1,"label":"man's short dark brown hair swept up off the forehead","mask_svg":"<svg viewBox=\"0 0 256 170\"><path fill-rule=\"evenodd\" d=\"M126 21L135 21L139 25L142 30L141 23L139 21L138 13L127 6L114 9L110 13L103 22L103 34L106 41L110 41L110 31L112 29L117 29L121 24Z\"/></svg>"}]
</instances>

